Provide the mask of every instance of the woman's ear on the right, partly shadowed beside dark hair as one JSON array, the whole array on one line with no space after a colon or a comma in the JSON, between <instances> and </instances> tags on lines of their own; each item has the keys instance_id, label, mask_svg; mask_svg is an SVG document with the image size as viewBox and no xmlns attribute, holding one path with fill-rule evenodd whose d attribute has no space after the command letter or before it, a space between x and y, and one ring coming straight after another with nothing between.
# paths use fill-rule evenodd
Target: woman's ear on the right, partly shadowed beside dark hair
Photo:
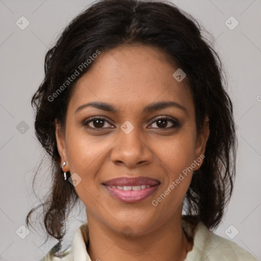
<instances>
[{"instance_id":1,"label":"woman's ear on the right, partly shadowed beside dark hair","mask_svg":"<svg viewBox=\"0 0 261 261\"><path fill-rule=\"evenodd\" d=\"M202 159L202 155L205 153L206 142L210 136L209 119L206 116L204 119L203 126L201 128L200 134L197 137L196 147L195 147L195 157L196 159ZM196 160L195 159L195 160ZM203 161L200 161L199 166L196 166L195 170L199 169Z\"/></svg>"}]
</instances>

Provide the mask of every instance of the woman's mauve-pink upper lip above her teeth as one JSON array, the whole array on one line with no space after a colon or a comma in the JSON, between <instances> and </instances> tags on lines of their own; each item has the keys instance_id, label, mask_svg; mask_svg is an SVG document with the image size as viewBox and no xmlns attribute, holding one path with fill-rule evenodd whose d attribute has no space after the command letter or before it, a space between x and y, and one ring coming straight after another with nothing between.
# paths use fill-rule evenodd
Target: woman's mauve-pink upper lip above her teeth
<instances>
[{"instance_id":1,"label":"woman's mauve-pink upper lip above her teeth","mask_svg":"<svg viewBox=\"0 0 261 261\"><path fill-rule=\"evenodd\" d=\"M103 182L107 186L140 186L140 185L158 185L160 181L150 177L118 177Z\"/></svg>"}]
</instances>

